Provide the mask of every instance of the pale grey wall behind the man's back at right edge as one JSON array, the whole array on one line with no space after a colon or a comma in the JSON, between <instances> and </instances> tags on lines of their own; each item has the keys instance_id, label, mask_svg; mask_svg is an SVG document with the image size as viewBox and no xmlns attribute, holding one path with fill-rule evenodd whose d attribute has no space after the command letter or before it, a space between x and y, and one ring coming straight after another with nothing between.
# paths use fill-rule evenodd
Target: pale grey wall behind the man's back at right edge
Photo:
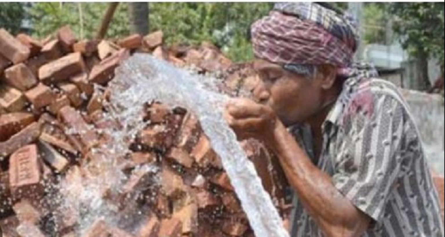
<instances>
[{"instance_id":1,"label":"pale grey wall behind the man's back at right edge","mask_svg":"<svg viewBox=\"0 0 445 237\"><path fill-rule=\"evenodd\" d=\"M429 165L444 175L444 98L437 94L401 89L425 146Z\"/></svg>"}]
</instances>

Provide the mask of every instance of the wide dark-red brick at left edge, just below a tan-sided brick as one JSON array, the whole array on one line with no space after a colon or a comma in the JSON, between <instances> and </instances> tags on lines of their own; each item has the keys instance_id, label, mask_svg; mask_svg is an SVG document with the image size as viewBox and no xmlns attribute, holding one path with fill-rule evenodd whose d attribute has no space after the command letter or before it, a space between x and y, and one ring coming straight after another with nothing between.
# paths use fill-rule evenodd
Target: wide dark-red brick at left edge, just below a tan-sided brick
<instances>
[{"instance_id":1,"label":"wide dark-red brick at left edge, just below a tan-sided brick","mask_svg":"<svg viewBox=\"0 0 445 237\"><path fill-rule=\"evenodd\" d=\"M34 116L30 113L17 112L0 115L0 142L8 140L34 121Z\"/></svg>"}]
</instances>

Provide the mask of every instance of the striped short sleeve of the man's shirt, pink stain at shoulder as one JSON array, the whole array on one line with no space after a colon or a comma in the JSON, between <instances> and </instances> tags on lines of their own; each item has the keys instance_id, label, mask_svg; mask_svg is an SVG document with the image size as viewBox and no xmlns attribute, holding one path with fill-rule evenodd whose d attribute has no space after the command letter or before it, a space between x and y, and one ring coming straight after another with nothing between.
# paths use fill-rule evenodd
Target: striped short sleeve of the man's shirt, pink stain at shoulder
<instances>
[{"instance_id":1,"label":"striped short sleeve of the man's shirt, pink stain at shoulder","mask_svg":"<svg viewBox=\"0 0 445 237\"><path fill-rule=\"evenodd\" d=\"M398 150L404 107L389 95L357 98L348 107L340 126L343 136L335 155L333 183L353 205L379 222L401 170Z\"/></svg>"}]
</instances>

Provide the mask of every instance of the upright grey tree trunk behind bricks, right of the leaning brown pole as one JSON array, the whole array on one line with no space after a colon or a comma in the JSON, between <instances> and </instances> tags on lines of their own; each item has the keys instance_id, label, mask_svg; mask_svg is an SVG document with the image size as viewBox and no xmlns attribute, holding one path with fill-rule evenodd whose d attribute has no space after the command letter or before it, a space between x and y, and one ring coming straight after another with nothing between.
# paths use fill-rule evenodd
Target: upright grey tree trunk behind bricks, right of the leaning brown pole
<instances>
[{"instance_id":1,"label":"upright grey tree trunk behind bricks, right of the leaning brown pole","mask_svg":"<svg viewBox=\"0 0 445 237\"><path fill-rule=\"evenodd\" d=\"M137 33L142 36L148 34L149 32L148 3L130 2L128 9L129 9L131 31L133 33Z\"/></svg>"}]
</instances>

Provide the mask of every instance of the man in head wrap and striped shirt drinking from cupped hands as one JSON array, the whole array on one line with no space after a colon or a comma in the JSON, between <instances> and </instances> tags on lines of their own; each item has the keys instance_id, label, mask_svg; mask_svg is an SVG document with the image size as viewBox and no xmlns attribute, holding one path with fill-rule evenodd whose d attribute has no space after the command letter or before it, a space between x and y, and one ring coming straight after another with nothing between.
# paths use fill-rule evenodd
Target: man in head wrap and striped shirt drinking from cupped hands
<instances>
[{"instance_id":1,"label":"man in head wrap and striped shirt drinking from cupped hands","mask_svg":"<svg viewBox=\"0 0 445 237\"><path fill-rule=\"evenodd\" d=\"M225 116L275 151L295 190L291 237L443 237L439 201L405 100L352 63L354 25L314 3L252 25L262 83Z\"/></svg>"}]
</instances>

